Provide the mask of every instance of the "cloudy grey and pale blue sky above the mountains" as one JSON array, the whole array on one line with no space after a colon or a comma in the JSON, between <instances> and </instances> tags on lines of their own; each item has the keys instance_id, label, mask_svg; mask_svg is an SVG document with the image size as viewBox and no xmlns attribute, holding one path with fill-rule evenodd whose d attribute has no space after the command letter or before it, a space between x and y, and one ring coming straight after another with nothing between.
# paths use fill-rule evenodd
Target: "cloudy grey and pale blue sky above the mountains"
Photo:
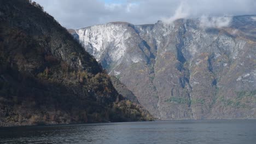
<instances>
[{"instance_id":1,"label":"cloudy grey and pale blue sky above the mountains","mask_svg":"<svg viewBox=\"0 0 256 144\"><path fill-rule=\"evenodd\" d=\"M133 24L185 17L256 14L255 0L34 0L66 28L113 21Z\"/></svg>"}]
</instances>

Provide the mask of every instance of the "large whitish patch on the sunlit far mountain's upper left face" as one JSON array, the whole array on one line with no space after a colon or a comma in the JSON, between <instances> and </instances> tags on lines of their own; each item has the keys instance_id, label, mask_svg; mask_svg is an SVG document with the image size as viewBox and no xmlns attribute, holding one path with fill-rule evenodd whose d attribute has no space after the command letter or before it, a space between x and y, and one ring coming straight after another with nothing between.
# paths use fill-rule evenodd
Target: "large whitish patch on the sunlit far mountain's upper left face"
<instances>
[{"instance_id":1,"label":"large whitish patch on the sunlit far mountain's upper left face","mask_svg":"<svg viewBox=\"0 0 256 144\"><path fill-rule=\"evenodd\" d=\"M127 27L121 23L86 27L76 32L85 50L94 55L97 61L107 51L112 61L119 61L126 51L125 41L131 37Z\"/></svg>"}]
</instances>

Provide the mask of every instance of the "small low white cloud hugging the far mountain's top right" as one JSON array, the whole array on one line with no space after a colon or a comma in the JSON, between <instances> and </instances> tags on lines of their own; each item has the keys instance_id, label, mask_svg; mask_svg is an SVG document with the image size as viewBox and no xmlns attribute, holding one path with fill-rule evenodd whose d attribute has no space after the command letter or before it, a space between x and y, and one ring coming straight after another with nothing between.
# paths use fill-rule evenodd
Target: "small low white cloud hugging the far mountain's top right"
<instances>
[{"instance_id":1,"label":"small low white cloud hugging the far mountain's top right","mask_svg":"<svg viewBox=\"0 0 256 144\"><path fill-rule=\"evenodd\" d=\"M228 27L230 25L230 22L232 21L231 16L221 16L221 17L207 17L202 16L200 19L200 26L209 28L209 27L215 27L215 28L221 28L221 27Z\"/></svg>"}]
</instances>

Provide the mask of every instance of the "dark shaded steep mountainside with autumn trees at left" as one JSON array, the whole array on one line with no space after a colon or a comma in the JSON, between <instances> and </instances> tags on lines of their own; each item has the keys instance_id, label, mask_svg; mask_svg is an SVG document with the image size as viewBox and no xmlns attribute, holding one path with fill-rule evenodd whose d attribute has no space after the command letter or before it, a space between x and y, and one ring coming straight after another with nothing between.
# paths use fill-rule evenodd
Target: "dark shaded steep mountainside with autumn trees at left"
<instances>
[{"instance_id":1,"label":"dark shaded steep mountainside with autumn trees at left","mask_svg":"<svg viewBox=\"0 0 256 144\"><path fill-rule=\"evenodd\" d=\"M0 126L150 118L39 4L0 1Z\"/></svg>"}]
</instances>

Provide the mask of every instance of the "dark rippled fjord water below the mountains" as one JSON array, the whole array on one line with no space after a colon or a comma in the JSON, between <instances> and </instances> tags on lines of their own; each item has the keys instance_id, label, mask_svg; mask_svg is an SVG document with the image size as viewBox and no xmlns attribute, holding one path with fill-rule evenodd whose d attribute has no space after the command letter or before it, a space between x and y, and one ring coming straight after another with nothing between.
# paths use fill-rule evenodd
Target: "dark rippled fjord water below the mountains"
<instances>
[{"instance_id":1,"label":"dark rippled fjord water below the mountains","mask_svg":"<svg viewBox=\"0 0 256 144\"><path fill-rule=\"evenodd\" d=\"M255 143L256 120L155 121L0 128L0 143Z\"/></svg>"}]
</instances>

